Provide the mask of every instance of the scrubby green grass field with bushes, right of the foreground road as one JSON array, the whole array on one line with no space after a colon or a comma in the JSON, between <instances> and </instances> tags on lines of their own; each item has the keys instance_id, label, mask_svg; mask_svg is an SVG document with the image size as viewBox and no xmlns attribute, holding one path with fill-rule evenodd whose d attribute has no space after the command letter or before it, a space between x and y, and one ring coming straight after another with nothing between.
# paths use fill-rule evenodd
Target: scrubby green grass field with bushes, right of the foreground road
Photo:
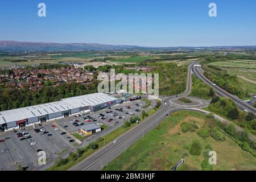
<instances>
[{"instance_id":1,"label":"scrubby green grass field with bushes, right of the foreground road","mask_svg":"<svg viewBox=\"0 0 256 182\"><path fill-rule=\"evenodd\" d=\"M182 122L196 124L199 129L183 133ZM217 152L217 165L213 170L256 170L256 160L249 152L242 150L232 139L218 131L224 141L212 137L203 139L197 131L202 128L215 127L215 121L195 111L179 111L171 114L160 125L151 130L144 138L128 148L111 163L105 170L170 170L176 162L184 158L184 164L178 170L201 170L205 146L209 144ZM201 144L201 154L191 155L189 148L193 140ZM208 164L209 165L209 164ZM211 166L212 167L212 166Z\"/></svg>"}]
</instances>

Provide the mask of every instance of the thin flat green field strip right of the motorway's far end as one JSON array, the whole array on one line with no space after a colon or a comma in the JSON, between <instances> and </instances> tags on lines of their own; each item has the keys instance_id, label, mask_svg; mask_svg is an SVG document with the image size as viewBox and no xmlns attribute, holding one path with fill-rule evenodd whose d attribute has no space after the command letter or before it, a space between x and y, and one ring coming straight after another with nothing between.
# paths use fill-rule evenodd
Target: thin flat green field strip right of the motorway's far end
<instances>
[{"instance_id":1,"label":"thin flat green field strip right of the motorway's far end","mask_svg":"<svg viewBox=\"0 0 256 182\"><path fill-rule=\"evenodd\" d=\"M234 63L234 62L228 62L228 61L217 61L217 62L209 63L208 65L214 65L221 68L256 69L256 63Z\"/></svg>"}]
</instances>

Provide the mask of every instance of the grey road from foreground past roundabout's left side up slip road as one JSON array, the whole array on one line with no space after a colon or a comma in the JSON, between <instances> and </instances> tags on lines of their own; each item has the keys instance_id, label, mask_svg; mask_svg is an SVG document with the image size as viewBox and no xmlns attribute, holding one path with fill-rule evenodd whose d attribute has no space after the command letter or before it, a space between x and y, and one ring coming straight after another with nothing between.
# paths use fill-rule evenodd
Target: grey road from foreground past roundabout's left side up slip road
<instances>
[{"instance_id":1,"label":"grey road from foreground past roundabout's left side up slip road","mask_svg":"<svg viewBox=\"0 0 256 182\"><path fill-rule=\"evenodd\" d=\"M177 97L184 97L191 92L191 68L193 64L188 65L188 78L187 78L187 88L185 93L180 94ZM173 107L171 105L171 100L177 97L167 97L162 100L162 105L160 109L152 115L150 118L147 118L145 121L139 123L139 125L133 127L132 129L126 131L126 133L119 136L117 143L108 143L106 146L100 148L92 155L88 156L86 159L82 160L76 166L73 166L69 170L71 171L96 171L101 170L102 167L106 166L118 155L125 152L128 147L137 142L142 138L146 133L152 130L154 127L158 126L159 122L167 118L167 115L177 110L185 110L186 107ZM196 99L196 98L195 98ZM197 98L197 100L200 100ZM202 105L205 106L205 105Z\"/></svg>"}]
</instances>

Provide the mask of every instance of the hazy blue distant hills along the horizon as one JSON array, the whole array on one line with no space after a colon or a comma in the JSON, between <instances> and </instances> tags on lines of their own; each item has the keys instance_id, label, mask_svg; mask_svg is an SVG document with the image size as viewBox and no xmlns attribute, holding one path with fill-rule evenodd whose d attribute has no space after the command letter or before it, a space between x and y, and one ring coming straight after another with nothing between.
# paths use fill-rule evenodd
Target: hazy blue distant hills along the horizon
<instances>
[{"instance_id":1,"label":"hazy blue distant hills along the horizon","mask_svg":"<svg viewBox=\"0 0 256 182\"><path fill-rule=\"evenodd\" d=\"M0 40L2 52L54 52L54 51L193 51L195 49L240 50L256 49L256 46L214 46L214 47L141 47L93 43L47 43Z\"/></svg>"}]
</instances>

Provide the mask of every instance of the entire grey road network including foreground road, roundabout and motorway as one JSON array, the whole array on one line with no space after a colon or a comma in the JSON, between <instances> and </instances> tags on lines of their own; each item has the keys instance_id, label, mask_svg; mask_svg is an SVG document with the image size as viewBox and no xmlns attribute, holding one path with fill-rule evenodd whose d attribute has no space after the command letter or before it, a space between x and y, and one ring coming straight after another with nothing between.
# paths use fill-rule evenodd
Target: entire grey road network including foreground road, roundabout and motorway
<instances>
[{"instance_id":1,"label":"entire grey road network including foreground road, roundabout and motorway","mask_svg":"<svg viewBox=\"0 0 256 182\"><path fill-rule=\"evenodd\" d=\"M195 97L187 97L187 95L191 92L191 71L195 76L199 77L202 81L206 82L208 85L212 86L217 94L220 96L229 97L232 99L241 109L247 109L252 111L255 114L255 109L250 105L246 104L238 97L233 96L232 94L226 92L225 90L219 88L211 81L209 81L202 73L195 68L193 65L198 64L198 62L193 62L188 65L188 76L187 76L187 88L183 94L161 98L162 105L158 111L150 118L147 118L144 122L139 123L137 126L132 129L126 131L126 133L122 134L115 140L116 143L108 143L105 147L100 148L92 155L88 156L86 159L82 160L77 165L73 166L69 170L71 171L96 171L101 170L104 166L108 165L113 159L115 159L118 155L125 152L128 147L137 142L140 138L142 138L145 134L147 134L154 127L159 125L159 122L163 121L170 113L173 113L178 110L196 110L203 112L199 107L205 107L209 105L209 101L201 100ZM203 71L202 71L203 72ZM179 98L187 97L192 103L191 104L183 104L179 102Z\"/></svg>"}]
</instances>

